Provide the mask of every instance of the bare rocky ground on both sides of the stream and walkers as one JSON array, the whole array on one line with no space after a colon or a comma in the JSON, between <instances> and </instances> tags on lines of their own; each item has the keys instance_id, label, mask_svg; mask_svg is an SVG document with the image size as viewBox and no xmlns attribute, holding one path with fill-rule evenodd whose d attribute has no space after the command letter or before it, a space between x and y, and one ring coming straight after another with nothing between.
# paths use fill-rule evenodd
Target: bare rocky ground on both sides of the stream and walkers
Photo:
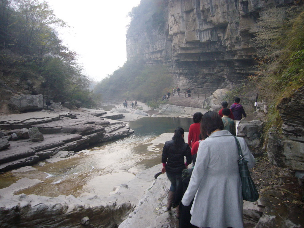
<instances>
[{"instance_id":1,"label":"bare rocky ground on both sides of the stream and walkers","mask_svg":"<svg viewBox=\"0 0 304 228\"><path fill-rule=\"evenodd\" d=\"M1 127L7 129L5 133L8 133L10 126L12 130L8 135L12 135L13 132L18 134L18 140L9 141L10 147L2 150L10 152L1 156L1 167L3 170L9 170L20 165L26 166L40 158L52 156L50 160L57 162L73 157L72 154L79 156L74 151L85 148L89 143L131 134L128 121L144 117L145 113L156 116L190 116L182 106L164 105L159 110L147 107L142 109L142 112L136 114L136 109L124 110L118 105L108 113L80 109L77 112L28 112L1 117ZM244 202L245 227L303 227L304 221L299 216L304 212L303 187L297 184L298 179L292 171L277 168L269 163L264 150L260 147L261 121L257 120L257 116L255 114L244 119L239 129L257 156L257 165L252 170L252 176L260 192L260 199L257 202ZM41 131L43 141L32 142L20 136L22 132L18 132L19 129L31 127L37 127ZM172 135L164 134L161 137L161 141L166 141ZM13 155L14 151L19 151L17 154L23 154L24 157L16 160L17 155ZM24 151L27 152L23 153ZM18 164L20 161L24 162ZM17 169L16 172L26 173L31 169L26 166ZM78 197L19 194L22 189L35 188L41 183L39 178L21 178L0 190L0 227L177 228L175 210L164 212L170 186L168 178L163 174L157 179L154 178L160 170L161 164L142 171L130 181L122 181L120 185L116 185L109 195L102 195L97 191Z\"/></svg>"}]
</instances>

